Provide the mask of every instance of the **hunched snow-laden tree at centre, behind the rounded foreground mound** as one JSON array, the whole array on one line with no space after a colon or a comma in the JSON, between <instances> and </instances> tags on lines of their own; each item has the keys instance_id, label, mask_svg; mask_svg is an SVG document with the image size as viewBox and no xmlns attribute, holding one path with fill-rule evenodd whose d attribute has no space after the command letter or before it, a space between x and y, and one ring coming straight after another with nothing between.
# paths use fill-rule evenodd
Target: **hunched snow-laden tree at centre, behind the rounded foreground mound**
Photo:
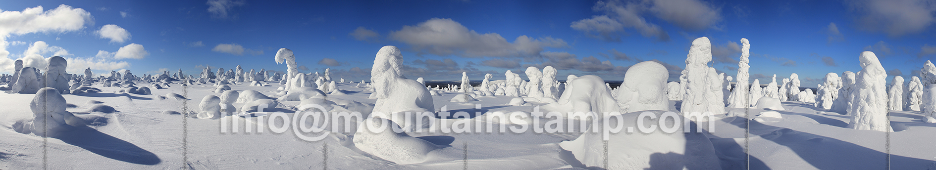
<instances>
[{"instance_id":1,"label":"hunched snow-laden tree at centre, behind the rounded foreground mound","mask_svg":"<svg viewBox=\"0 0 936 170\"><path fill-rule=\"evenodd\" d=\"M404 77L402 64L403 57L397 47L384 46L377 52L371 67L373 93L377 98L373 112L435 111L429 91L416 80Z\"/></svg>"}]
</instances>

